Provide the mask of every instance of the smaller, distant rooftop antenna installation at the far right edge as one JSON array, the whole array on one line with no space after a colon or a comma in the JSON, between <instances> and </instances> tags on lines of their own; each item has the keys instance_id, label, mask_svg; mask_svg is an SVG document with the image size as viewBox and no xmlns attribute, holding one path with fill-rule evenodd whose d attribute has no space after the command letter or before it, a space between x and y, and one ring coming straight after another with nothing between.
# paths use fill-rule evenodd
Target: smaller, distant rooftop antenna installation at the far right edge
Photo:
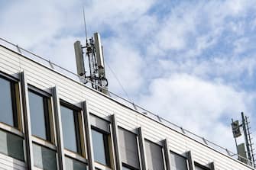
<instances>
[{"instance_id":1,"label":"smaller, distant rooftop antenna installation at the far right edge","mask_svg":"<svg viewBox=\"0 0 256 170\"><path fill-rule=\"evenodd\" d=\"M245 143L240 143L238 145L237 138L242 136L241 129L244 132ZM255 155L254 155L254 148L252 146L252 138L251 138L248 117L245 116L243 112L241 112L241 124L239 123L238 120L234 121L232 119L232 131L235 139L235 146L238 152L238 160L248 165L251 165L252 167L255 168L256 167L255 159L254 159Z\"/></svg>"}]
</instances>

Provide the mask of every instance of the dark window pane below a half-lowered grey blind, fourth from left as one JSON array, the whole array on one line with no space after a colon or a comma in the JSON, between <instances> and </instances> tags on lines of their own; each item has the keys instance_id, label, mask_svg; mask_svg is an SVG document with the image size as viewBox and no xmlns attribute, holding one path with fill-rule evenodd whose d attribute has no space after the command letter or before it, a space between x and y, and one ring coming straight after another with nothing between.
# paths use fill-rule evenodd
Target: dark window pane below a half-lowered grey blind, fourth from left
<instances>
[{"instance_id":1,"label":"dark window pane below a half-lowered grey blind, fourth from left","mask_svg":"<svg viewBox=\"0 0 256 170\"><path fill-rule=\"evenodd\" d=\"M94 160L103 165L109 165L109 158L107 158L109 145L106 138L107 136L105 136L103 133L100 133L96 130L92 130L92 146Z\"/></svg>"}]
</instances>

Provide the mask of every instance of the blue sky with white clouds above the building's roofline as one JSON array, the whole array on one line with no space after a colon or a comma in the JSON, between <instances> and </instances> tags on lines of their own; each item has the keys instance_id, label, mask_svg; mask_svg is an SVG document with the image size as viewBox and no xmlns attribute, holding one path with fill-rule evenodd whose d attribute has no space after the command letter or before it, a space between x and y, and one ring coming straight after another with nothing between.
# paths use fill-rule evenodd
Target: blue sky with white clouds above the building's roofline
<instances>
[{"instance_id":1,"label":"blue sky with white clouds above the building's roofline","mask_svg":"<svg viewBox=\"0 0 256 170\"><path fill-rule=\"evenodd\" d=\"M256 1L0 0L0 37L76 72L83 7L110 91L234 152L244 111L256 137Z\"/></svg>"}]
</instances>

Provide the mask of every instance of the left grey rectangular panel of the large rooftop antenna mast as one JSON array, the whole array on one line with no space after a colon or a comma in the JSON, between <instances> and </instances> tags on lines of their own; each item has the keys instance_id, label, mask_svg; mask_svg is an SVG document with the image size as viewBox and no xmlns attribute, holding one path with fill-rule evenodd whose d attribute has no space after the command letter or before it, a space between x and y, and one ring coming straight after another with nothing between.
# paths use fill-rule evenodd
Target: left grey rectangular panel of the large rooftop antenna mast
<instances>
[{"instance_id":1,"label":"left grey rectangular panel of the large rooftop antenna mast","mask_svg":"<svg viewBox=\"0 0 256 170\"><path fill-rule=\"evenodd\" d=\"M74 43L75 54L76 54L76 69L78 75L85 74L85 66L83 61L83 50L80 41Z\"/></svg>"}]
</instances>

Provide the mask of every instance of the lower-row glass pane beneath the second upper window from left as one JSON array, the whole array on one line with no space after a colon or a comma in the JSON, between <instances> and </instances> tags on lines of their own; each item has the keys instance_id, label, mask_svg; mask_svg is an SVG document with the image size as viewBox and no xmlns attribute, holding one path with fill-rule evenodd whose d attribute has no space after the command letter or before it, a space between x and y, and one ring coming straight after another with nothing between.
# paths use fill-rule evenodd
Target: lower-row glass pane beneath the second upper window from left
<instances>
[{"instance_id":1,"label":"lower-row glass pane beneath the second upper window from left","mask_svg":"<svg viewBox=\"0 0 256 170\"><path fill-rule=\"evenodd\" d=\"M56 152L33 143L34 166L44 170L57 169Z\"/></svg>"}]
</instances>

